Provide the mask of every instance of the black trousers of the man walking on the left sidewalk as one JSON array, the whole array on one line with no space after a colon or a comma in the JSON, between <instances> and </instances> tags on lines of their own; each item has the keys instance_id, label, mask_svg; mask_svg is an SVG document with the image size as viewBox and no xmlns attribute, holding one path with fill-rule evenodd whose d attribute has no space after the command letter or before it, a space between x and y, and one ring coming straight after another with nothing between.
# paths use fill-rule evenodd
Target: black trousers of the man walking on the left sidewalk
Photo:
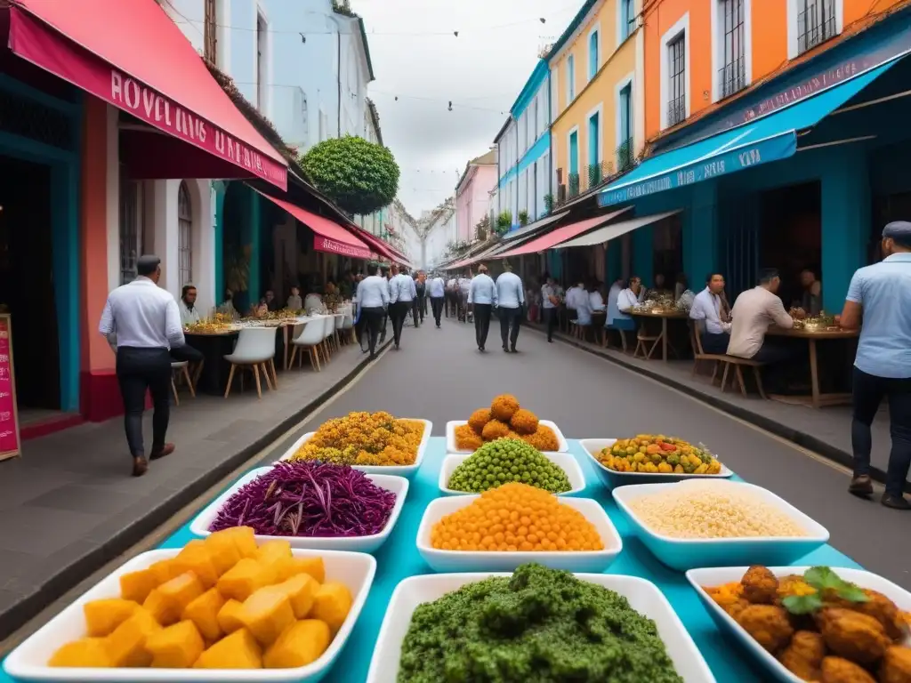
<instances>
[{"instance_id":1,"label":"black trousers of the man walking on the left sidewalk","mask_svg":"<svg viewBox=\"0 0 911 683\"><path fill-rule=\"evenodd\" d=\"M117 379L123 398L124 429L129 453L144 457L142 413L146 409L146 391L152 394L155 413L152 416L152 450L158 453L165 445L170 418L171 357L167 349L139 349L121 346L117 350Z\"/></svg>"}]
</instances>

